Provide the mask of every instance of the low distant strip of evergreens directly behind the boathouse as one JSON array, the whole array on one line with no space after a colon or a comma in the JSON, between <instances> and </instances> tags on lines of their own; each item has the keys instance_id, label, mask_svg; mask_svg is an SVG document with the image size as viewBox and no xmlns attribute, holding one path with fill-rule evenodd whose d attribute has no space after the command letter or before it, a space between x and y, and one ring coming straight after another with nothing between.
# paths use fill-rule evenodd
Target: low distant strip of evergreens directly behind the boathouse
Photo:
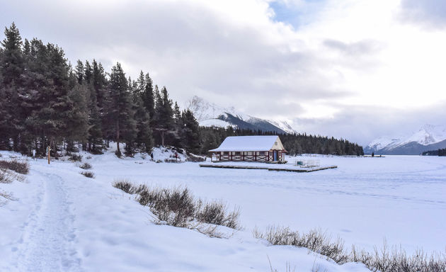
<instances>
[{"instance_id":1,"label":"low distant strip of evergreens directly behind the boathouse","mask_svg":"<svg viewBox=\"0 0 446 272\"><path fill-rule=\"evenodd\" d=\"M333 137L322 137L304 134L278 134L261 130L240 130L234 128L200 128L202 152L217 148L228 136L246 135L278 135L288 154L335 154L362 156L362 147L348 140L338 140Z\"/></svg>"}]
</instances>

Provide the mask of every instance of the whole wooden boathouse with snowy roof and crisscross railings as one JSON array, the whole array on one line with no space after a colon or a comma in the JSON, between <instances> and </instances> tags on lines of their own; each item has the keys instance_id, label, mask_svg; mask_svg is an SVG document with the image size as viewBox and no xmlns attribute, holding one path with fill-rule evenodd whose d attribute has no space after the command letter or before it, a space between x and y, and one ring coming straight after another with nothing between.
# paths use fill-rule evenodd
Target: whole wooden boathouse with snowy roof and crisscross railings
<instances>
[{"instance_id":1,"label":"whole wooden boathouse with snowy roof and crisscross railings","mask_svg":"<svg viewBox=\"0 0 446 272\"><path fill-rule=\"evenodd\" d=\"M230 136L211 152L212 162L285 162L279 136Z\"/></svg>"}]
</instances>

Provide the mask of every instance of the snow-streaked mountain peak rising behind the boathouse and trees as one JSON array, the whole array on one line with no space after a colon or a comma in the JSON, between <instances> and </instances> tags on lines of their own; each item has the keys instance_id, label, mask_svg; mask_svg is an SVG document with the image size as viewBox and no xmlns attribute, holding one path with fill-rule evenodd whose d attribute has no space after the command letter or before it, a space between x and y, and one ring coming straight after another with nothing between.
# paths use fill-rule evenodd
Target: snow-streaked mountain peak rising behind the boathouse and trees
<instances>
[{"instance_id":1,"label":"snow-streaked mountain peak rising behind the boathouse and trees","mask_svg":"<svg viewBox=\"0 0 446 272\"><path fill-rule=\"evenodd\" d=\"M193 112L198 123L203 127L227 128L232 126L241 129L274 131L277 133L296 132L286 121L256 118L239 113L234 107L224 108L215 103L205 101L198 96L193 96L188 101L186 108Z\"/></svg>"}]
</instances>

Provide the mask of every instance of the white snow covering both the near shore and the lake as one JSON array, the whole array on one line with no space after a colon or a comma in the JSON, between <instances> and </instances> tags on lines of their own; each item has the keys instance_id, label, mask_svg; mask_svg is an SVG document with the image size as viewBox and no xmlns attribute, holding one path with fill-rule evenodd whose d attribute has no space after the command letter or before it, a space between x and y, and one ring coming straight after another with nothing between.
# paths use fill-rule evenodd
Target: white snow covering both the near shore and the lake
<instances>
[{"instance_id":1,"label":"white snow covering both the near shore and the lake","mask_svg":"<svg viewBox=\"0 0 446 272\"><path fill-rule=\"evenodd\" d=\"M11 153L0 152L3 158ZM161 152L162 153L162 152ZM156 154L154 154L156 155ZM312 173L210 169L88 155L96 179L72 162L30 160L27 181L0 184L18 200L0 207L0 271L368 271L338 266L306 249L268 246L254 227L320 227L371 249L384 237L413 251L445 251L446 159L442 157L297 157L338 165ZM156 159L156 158L155 158ZM149 186L188 186L195 196L241 208L241 231L229 239L154 225L115 179ZM227 231L227 230L225 230Z\"/></svg>"}]
</instances>

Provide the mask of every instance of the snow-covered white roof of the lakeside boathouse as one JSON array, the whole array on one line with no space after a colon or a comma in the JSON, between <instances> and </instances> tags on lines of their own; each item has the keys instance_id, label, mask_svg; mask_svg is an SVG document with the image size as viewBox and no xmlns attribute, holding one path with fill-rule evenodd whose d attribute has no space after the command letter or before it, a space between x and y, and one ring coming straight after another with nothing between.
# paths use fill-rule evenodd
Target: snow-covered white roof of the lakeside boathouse
<instances>
[{"instance_id":1,"label":"snow-covered white roof of the lakeside boathouse","mask_svg":"<svg viewBox=\"0 0 446 272\"><path fill-rule=\"evenodd\" d=\"M283 150L278 136L230 136L210 152Z\"/></svg>"}]
</instances>

